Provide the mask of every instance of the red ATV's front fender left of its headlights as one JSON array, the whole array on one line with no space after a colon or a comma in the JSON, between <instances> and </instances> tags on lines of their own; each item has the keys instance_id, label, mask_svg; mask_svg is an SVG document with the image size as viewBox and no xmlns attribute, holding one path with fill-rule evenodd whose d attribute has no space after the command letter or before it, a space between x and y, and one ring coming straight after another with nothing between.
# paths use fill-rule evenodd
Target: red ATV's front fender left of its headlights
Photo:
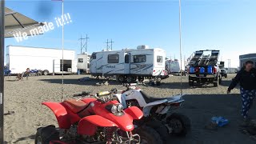
<instances>
[{"instance_id":1,"label":"red ATV's front fender left of its headlights","mask_svg":"<svg viewBox=\"0 0 256 144\"><path fill-rule=\"evenodd\" d=\"M78 123L78 134L82 135L94 135L97 131L97 126L101 127L111 127L117 126L114 122L103 118L99 115L90 115L85 118L82 118Z\"/></svg>"}]
</instances>

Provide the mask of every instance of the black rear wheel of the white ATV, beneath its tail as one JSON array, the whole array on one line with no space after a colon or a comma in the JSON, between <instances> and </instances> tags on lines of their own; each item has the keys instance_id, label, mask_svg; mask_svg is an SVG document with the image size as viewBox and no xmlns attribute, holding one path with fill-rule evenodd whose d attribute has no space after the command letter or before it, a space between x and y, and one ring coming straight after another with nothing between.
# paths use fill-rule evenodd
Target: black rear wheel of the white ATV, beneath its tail
<instances>
[{"instance_id":1,"label":"black rear wheel of the white ATV, beneath its tail","mask_svg":"<svg viewBox=\"0 0 256 144\"><path fill-rule=\"evenodd\" d=\"M190 130L190 118L187 118L183 114L171 114L166 118L166 124L170 126L171 134L177 136L186 136L187 132Z\"/></svg>"}]
</instances>

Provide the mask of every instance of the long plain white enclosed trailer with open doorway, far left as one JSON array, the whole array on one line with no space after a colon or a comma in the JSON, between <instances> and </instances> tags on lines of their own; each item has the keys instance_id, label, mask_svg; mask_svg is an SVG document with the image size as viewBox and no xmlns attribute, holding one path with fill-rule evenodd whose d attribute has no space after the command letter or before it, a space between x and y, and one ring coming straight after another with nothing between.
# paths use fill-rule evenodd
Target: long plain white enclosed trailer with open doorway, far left
<instances>
[{"instance_id":1,"label":"long plain white enclosed trailer with open doorway, far left","mask_svg":"<svg viewBox=\"0 0 256 144\"><path fill-rule=\"evenodd\" d=\"M43 74L62 73L62 50L41 47L7 46L6 65L12 74L21 74L26 68L42 70ZM63 51L63 71L77 73L75 50Z\"/></svg>"}]
</instances>

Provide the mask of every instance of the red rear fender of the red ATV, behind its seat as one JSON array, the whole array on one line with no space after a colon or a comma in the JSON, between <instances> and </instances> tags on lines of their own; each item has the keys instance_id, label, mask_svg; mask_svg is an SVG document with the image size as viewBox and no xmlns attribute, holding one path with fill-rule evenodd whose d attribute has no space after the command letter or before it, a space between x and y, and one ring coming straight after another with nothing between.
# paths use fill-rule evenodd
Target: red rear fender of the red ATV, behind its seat
<instances>
[{"instance_id":1,"label":"red rear fender of the red ATV, behind its seat","mask_svg":"<svg viewBox=\"0 0 256 144\"><path fill-rule=\"evenodd\" d=\"M55 117L58 121L58 126L61 129L69 129L70 121L66 109L58 102L42 102L42 105L45 105L50 108L55 114Z\"/></svg>"}]
</instances>

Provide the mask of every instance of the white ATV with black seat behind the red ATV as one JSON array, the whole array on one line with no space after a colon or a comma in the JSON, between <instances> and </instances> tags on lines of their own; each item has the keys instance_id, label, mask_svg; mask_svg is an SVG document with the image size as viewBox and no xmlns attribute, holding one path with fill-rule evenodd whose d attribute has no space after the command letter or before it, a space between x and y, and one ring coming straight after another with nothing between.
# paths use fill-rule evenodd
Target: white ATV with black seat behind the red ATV
<instances>
[{"instance_id":1,"label":"white ATV with black seat behind the red ATV","mask_svg":"<svg viewBox=\"0 0 256 144\"><path fill-rule=\"evenodd\" d=\"M166 141L170 134L185 136L190 130L190 118L183 114L174 113L174 110L182 105L182 95L169 98L155 98L142 91L137 84L124 84L126 90L114 94L118 102L122 103L126 110L131 106L137 106L143 111L144 117L136 122L138 126L150 126ZM119 91L120 92L120 91Z\"/></svg>"}]
</instances>

